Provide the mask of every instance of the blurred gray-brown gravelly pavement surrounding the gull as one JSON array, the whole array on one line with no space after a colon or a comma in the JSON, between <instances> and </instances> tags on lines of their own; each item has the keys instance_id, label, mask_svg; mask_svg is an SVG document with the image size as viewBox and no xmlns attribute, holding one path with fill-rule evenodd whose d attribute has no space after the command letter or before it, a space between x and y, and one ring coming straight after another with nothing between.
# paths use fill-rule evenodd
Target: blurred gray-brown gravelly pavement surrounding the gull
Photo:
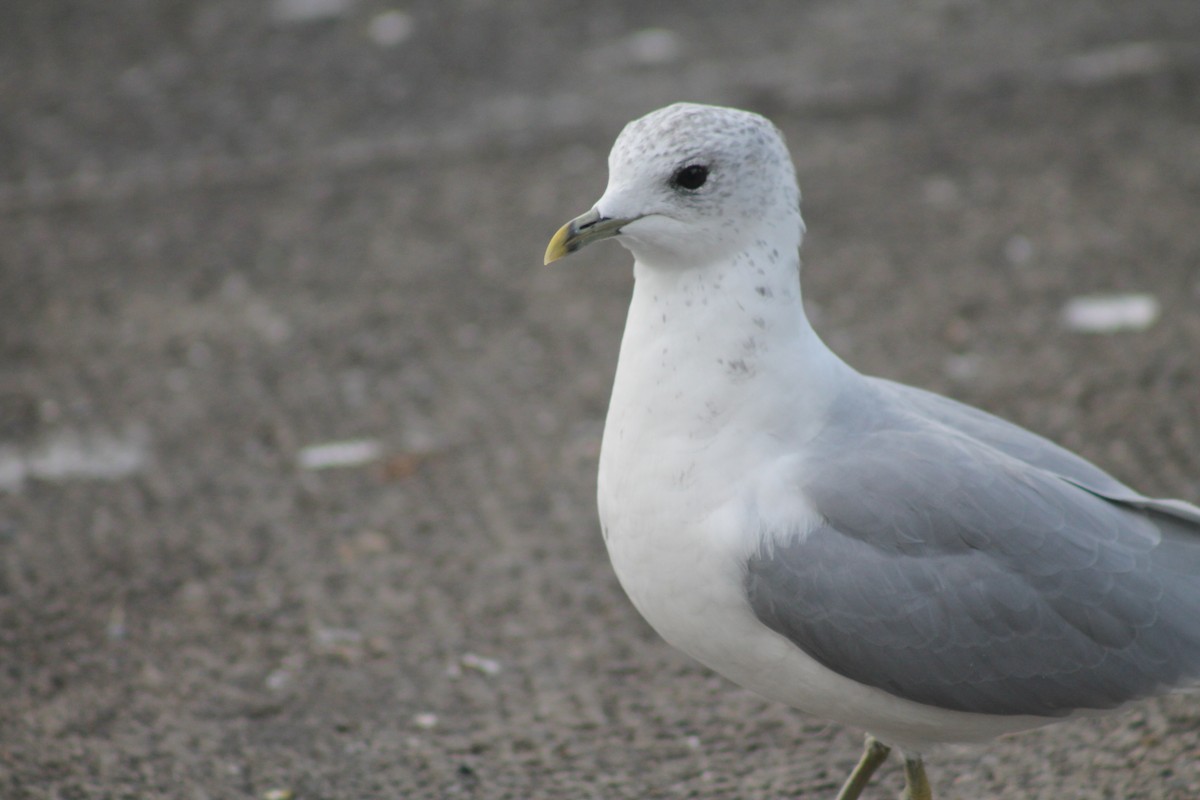
<instances>
[{"instance_id":1,"label":"blurred gray-brown gravelly pavement surrounding the gull","mask_svg":"<svg viewBox=\"0 0 1200 800\"><path fill-rule=\"evenodd\" d=\"M678 100L787 134L846 360L1200 500L1193 0L7 0L0 795L836 792L860 733L673 652L595 522L630 259L541 254ZM1196 752L1174 698L931 775Z\"/></svg>"}]
</instances>

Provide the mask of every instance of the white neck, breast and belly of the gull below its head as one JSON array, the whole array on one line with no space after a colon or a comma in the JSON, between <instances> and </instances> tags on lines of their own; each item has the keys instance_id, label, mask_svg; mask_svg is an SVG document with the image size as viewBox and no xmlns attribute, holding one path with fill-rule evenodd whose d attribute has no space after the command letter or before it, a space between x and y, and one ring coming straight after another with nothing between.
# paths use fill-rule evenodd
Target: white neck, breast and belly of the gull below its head
<instances>
[{"instance_id":1,"label":"white neck, breast and belly of the gull below its head","mask_svg":"<svg viewBox=\"0 0 1200 800\"><path fill-rule=\"evenodd\" d=\"M858 375L823 350L803 317L773 315L767 301L748 308L728 282L703 305L688 294L684 306L678 281L665 287L638 273L600 455L600 522L638 612L734 682L911 751L1044 724L892 697L826 669L755 618L742 570L760 531L779 528L761 510L785 515L797 533L818 524L788 485L805 468L794 453L820 431L839 381ZM788 325L791 335L779 336ZM751 343L763 329L775 332L769 347ZM731 343L740 348L737 365Z\"/></svg>"}]
</instances>

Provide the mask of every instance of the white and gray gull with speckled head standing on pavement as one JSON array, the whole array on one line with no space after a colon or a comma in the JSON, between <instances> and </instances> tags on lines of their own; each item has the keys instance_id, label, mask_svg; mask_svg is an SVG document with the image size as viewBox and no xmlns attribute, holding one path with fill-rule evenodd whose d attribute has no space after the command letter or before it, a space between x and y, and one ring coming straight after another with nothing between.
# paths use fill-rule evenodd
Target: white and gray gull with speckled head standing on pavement
<instances>
[{"instance_id":1,"label":"white and gray gull with speckled head standing on pavement","mask_svg":"<svg viewBox=\"0 0 1200 800\"><path fill-rule=\"evenodd\" d=\"M679 103L630 122L546 263L614 237L634 291L601 531L670 644L868 732L839 800L923 757L1195 687L1200 507L984 411L864 375L800 302L779 130Z\"/></svg>"}]
</instances>

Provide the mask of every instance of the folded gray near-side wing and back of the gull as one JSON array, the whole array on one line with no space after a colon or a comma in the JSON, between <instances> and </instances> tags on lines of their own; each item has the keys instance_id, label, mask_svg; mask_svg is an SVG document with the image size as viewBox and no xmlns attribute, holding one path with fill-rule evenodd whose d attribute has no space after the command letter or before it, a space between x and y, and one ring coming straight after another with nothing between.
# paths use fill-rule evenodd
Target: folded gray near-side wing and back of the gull
<instances>
[{"instance_id":1,"label":"folded gray near-side wing and back of the gull","mask_svg":"<svg viewBox=\"0 0 1200 800\"><path fill-rule=\"evenodd\" d=\"M745 565L766 625L853 680L961 711L1056 716L1200 678L1190 518L878 395L838 416L799 486L823 525L762 531Z\"/></svg>"}]
</instances>

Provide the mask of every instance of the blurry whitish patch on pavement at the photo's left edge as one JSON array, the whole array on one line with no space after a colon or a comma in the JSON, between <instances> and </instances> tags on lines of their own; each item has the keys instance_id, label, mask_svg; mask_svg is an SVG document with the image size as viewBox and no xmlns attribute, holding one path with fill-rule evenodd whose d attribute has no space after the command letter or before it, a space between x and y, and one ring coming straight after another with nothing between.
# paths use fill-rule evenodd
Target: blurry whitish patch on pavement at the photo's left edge
<instances>
[{"instance_id":1,"label":"blurry whitish patch on pavement at the photo's left edge","mask_svg":"<svg viewBox=\"0 0 1200 800\"><path fill-rule=\"evenodd\" d=\"M26 480L115 481L145 469L150 434L130 426L107 431L54 431L28 447L0 443L0 492L19 492Z\"/></svg>"}]
</instances>

